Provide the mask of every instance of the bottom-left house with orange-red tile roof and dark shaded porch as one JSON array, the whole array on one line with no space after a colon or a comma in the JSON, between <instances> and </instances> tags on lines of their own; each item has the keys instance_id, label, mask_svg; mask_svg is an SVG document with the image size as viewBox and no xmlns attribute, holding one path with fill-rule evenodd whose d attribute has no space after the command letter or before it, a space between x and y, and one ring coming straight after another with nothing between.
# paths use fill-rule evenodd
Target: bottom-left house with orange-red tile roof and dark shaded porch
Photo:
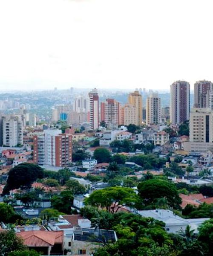
<instances>
[{"instance_id":1,"label":"bottom-left house with orange-red tile roof and dark shaded porch","mask_svg":"<svg viewBox=\"0 0 213 256\"><path fill-rule=\"evenodd\" d=\"M63 231L23 231L17 233L23 244L43 255L63 254Z\"/></svg>"}]
</instances>

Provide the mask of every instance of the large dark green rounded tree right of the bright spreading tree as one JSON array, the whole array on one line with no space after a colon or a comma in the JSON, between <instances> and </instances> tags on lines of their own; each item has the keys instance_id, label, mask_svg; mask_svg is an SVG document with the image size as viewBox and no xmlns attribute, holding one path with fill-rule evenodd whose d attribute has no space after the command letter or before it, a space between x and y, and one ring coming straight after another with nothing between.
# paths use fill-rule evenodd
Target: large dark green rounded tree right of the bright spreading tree
<instances>
[{"instance_id":1,"label":"large dark green rounded tree right of the bright spreading tree","mask_svg":"<svg viewBox=\"0 0 213 256\"><path fill-rule=\"evenodd\" d=\"M145 205L155 204L158 198L165 198L168 205L175 209L179 208L181 198L173 183L167 180L151 179L138 184L138 194Z\"/></svg>"}]
</instances>

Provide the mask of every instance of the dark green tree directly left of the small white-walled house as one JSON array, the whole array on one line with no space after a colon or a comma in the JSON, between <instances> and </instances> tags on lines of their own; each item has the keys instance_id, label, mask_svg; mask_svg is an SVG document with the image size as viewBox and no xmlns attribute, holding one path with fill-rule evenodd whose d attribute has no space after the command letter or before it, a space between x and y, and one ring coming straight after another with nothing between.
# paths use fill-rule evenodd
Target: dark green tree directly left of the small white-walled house
<instances>
[{"instance_id":1,"label":"dark green tree directly left of the small white-walled house","mask_svg":"<svg viewBox=\"0 0 213 256\"><path fill-rule=\"evenodd\" d=\"M69 190L64 190L60 192L60 195L54 195L51 198L51 205L54 209L59 212L64 212L70 214L71 206L73 205L73 194Z\"/></svg>"}]
</instances>

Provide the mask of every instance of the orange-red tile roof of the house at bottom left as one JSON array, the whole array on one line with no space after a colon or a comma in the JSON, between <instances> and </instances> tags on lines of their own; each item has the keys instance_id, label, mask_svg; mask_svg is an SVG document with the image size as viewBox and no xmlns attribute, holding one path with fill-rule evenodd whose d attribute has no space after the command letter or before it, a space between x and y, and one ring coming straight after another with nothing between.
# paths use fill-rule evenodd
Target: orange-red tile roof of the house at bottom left
<instances>
[{"instance_id":1,"label":"orange-red tile roof of the house at bottom left","mask_svg":"<svg viewBox=\"0 0 213 256\"><path fill-rule=\"evenodd\" d=\"M24 231L17 233L28 247L47 247L63 243L63 231Z\"/></svg>"}]
</instances>

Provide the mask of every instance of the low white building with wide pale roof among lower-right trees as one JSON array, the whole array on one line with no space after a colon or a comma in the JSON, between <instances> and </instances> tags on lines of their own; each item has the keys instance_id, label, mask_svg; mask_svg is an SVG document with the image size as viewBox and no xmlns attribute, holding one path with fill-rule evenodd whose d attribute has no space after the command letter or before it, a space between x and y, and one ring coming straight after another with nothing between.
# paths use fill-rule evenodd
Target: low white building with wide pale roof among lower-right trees
<instances>
[{"instance_id":1,"label":"low white building with wide pale roof among lower-right trees","mask_svg":"<svg viewBox=\"0 0 213 256\"><path fill-rule=\"evenodd\" d=\"M138 214L142 217L151 217L158 221L163 221L166 224L165 230L168 233L177 233L181 229L185 230L187 225L190 225L191 228L195 230L195 233L197 233L199 225L209 219L184 219L174 214L172 211L164 209L138 211Z\"/></svg>"}]
</instances>

